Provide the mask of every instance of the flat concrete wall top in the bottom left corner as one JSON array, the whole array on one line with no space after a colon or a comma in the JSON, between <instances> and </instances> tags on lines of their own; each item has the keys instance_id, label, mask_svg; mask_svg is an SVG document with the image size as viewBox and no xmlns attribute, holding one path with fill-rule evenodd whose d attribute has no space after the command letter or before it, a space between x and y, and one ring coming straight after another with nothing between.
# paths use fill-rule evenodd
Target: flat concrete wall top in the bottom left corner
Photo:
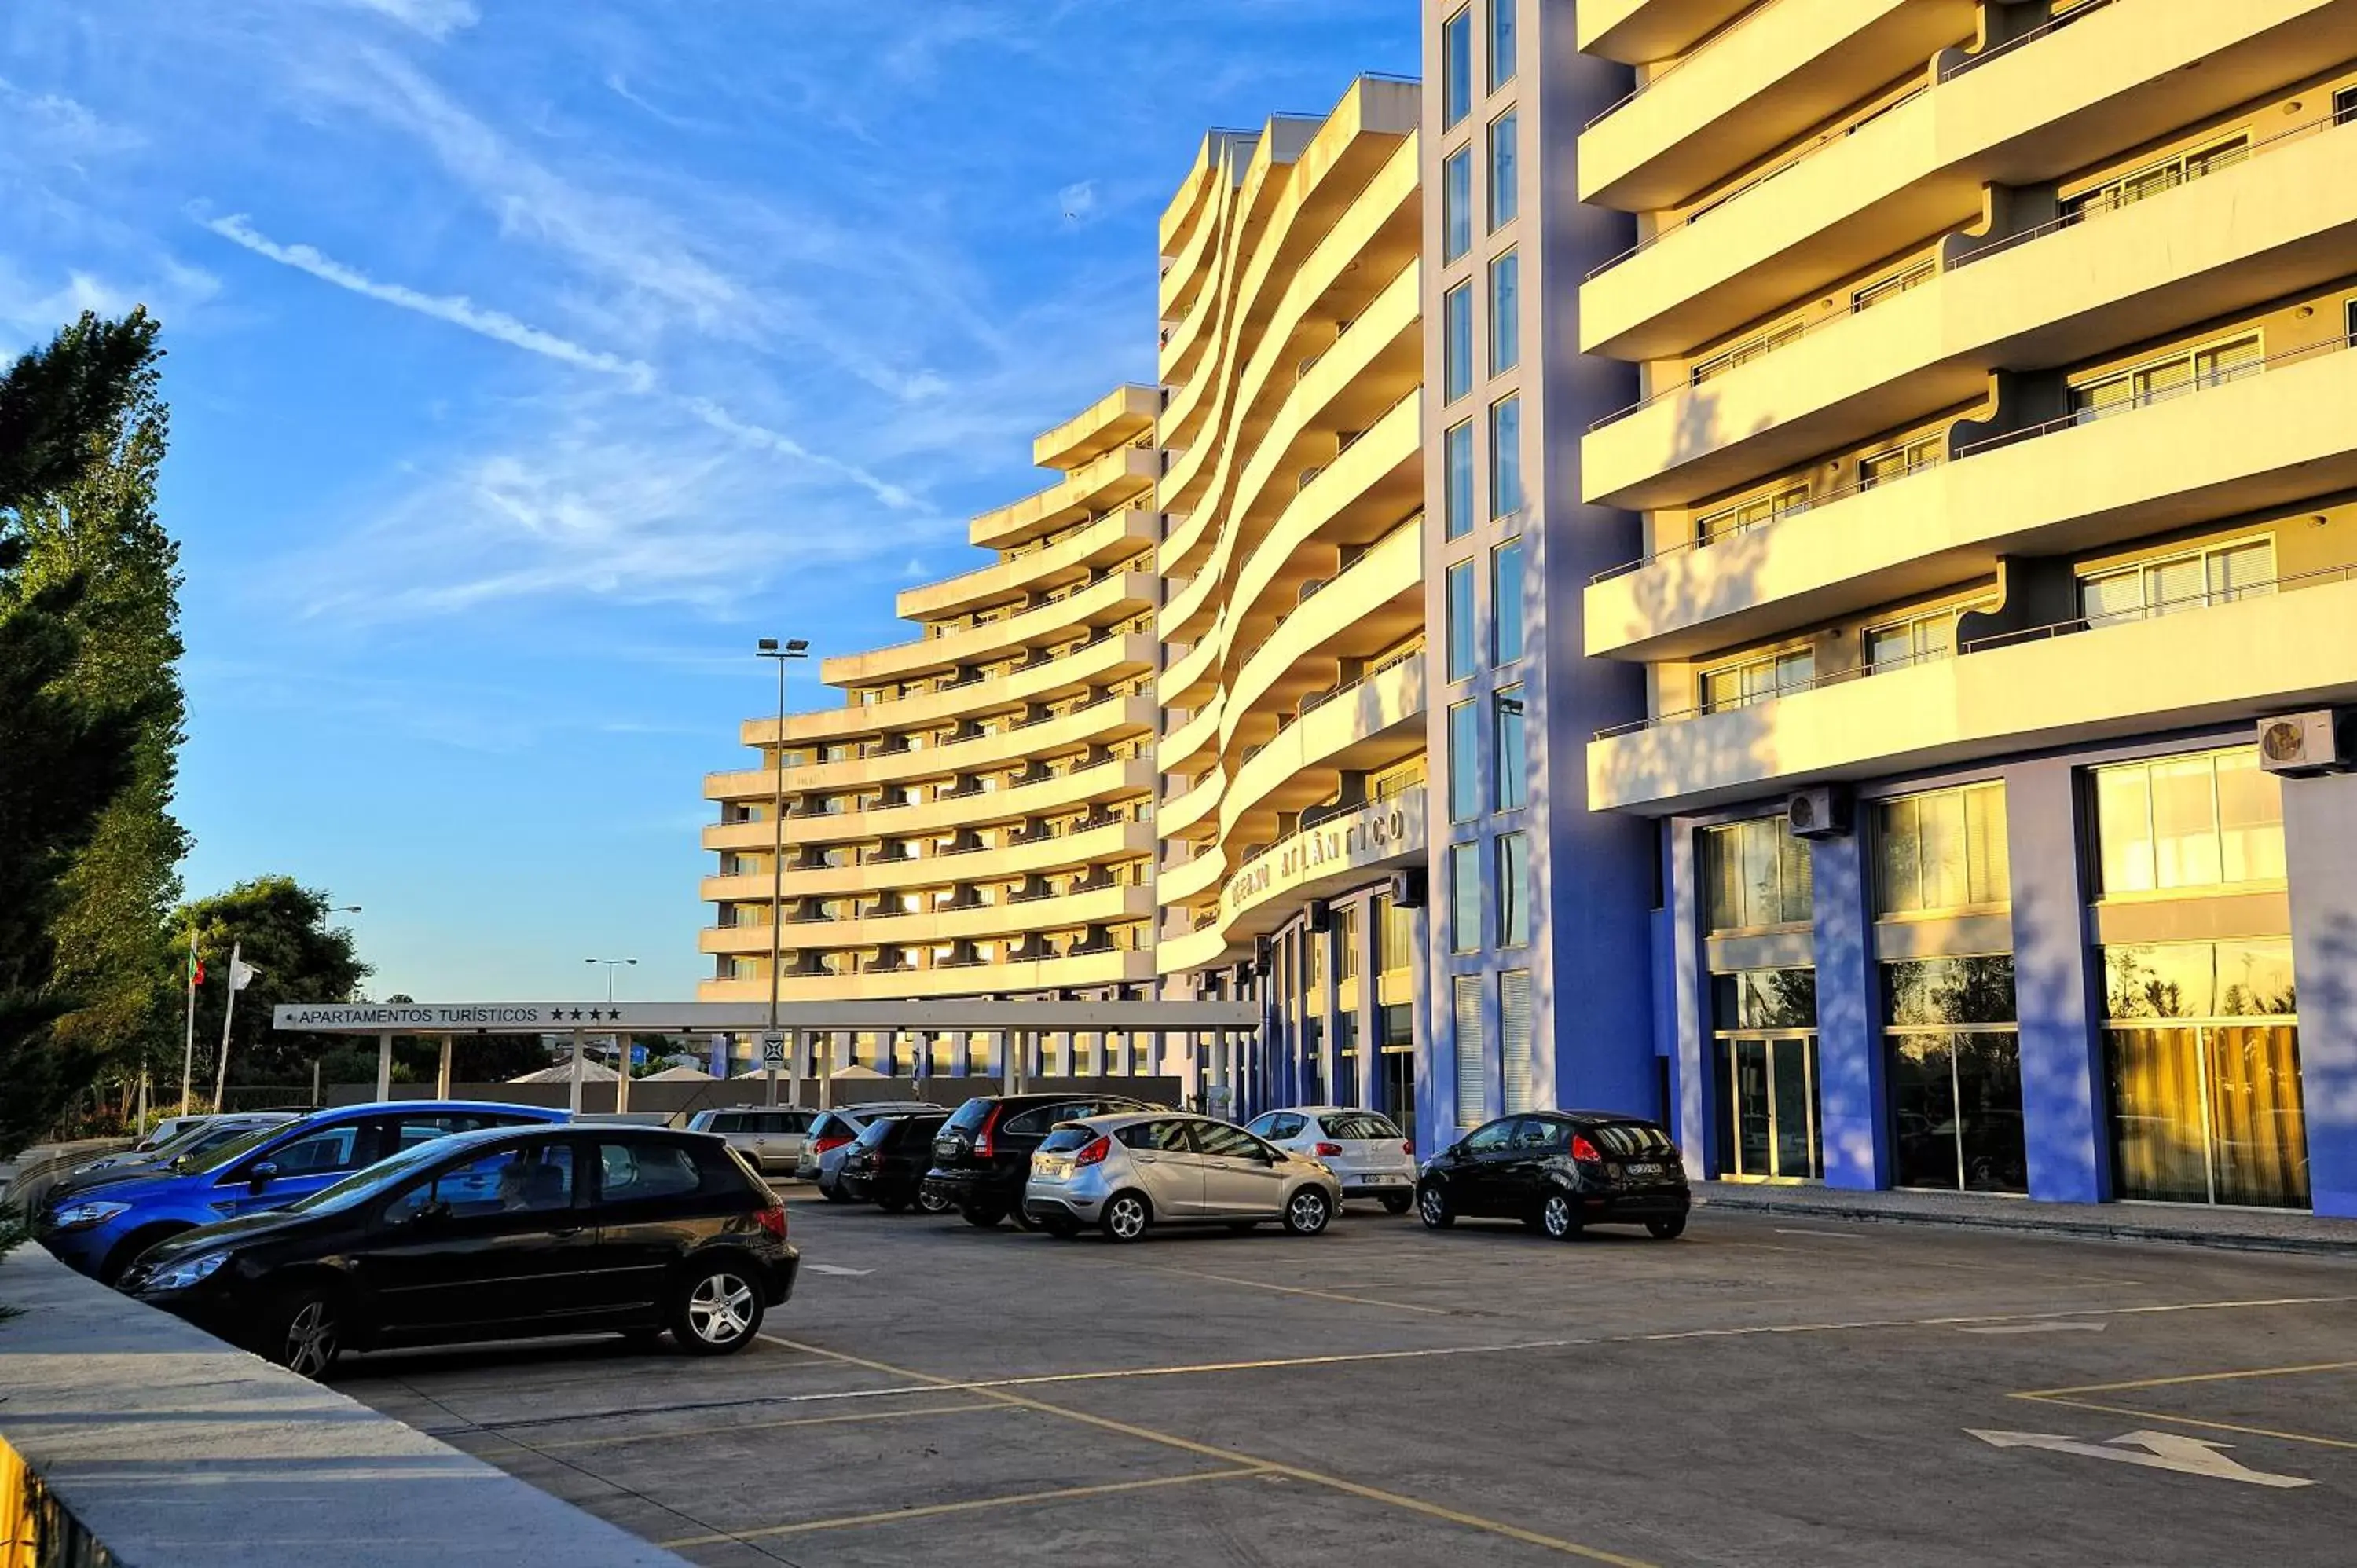
<instances>
[{"instance_id":1,"label":"flat concrete wall top in the bottom left corner","mask_svg":"<svg viewBox=\"0 0 2357 1568\"><path fill-rule=\"evenodd\" d=\"M681 1568L40 1247L0 1302L0 1441L120 1568Z\"/></svg>"}]
</instances>

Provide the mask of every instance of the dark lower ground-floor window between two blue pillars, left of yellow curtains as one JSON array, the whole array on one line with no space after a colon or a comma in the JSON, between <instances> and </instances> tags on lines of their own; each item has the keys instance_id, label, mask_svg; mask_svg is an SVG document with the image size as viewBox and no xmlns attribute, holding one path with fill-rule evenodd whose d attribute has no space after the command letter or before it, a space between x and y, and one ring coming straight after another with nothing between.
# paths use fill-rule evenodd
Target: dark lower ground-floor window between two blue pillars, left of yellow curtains
<instances>
[{"instance_id":1,"label":"dark lower ground-floor window between two blue pillars, left of yellow curtains","mask_svg":"<svg viewBox=\"0 0 2357 1568\"><path fill-rule=\"evenodd\" d=\"M2013 955L1883 964L1900 1186L2027 1193Z\"/></svg>"}]
</instances>

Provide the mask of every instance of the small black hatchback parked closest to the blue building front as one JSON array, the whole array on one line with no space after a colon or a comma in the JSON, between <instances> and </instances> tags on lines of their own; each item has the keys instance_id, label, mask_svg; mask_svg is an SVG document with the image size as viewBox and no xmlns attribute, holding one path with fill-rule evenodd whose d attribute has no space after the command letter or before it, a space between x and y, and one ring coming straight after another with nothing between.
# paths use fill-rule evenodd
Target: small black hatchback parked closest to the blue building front
<instances>
[{"instance_id":1,"label":"small black hatchback parked closest to the blue building front","mask_svg":"<svg viewBox=\"0 0 2357 1568\"><path fill-rule=\"evenodd\" d=\"M1570 1240L1591 1224L1640 1224L1671 1240L1688 1207L1685 1162L1669 1134L1610 1111L1501 1115L1426 1160L1417 1179L1417 1214L1435 1231L1520 1219Z\"/></svg>"}]
</instances>

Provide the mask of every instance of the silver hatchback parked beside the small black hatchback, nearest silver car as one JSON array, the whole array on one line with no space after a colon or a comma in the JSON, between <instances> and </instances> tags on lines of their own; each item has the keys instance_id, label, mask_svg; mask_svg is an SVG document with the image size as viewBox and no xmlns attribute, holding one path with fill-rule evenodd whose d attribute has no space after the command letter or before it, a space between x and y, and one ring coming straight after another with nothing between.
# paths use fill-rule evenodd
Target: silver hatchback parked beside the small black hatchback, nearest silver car
<instances>
[{"instance_id":1,"label":"silver hatchback parked beside the small black hatchback, nearest silver car","mask_svg":"<svg viewBox=\"0 0 2357 1568\"><path fill-rule=\"evenodd\" d=\"M1082 1226L1113 1240L1138 1240L1157 1224L1249 1231L1263 1219L1318 1236L1339 1207L1341 1181L1320 1160L1176 1111L1063 1122L1032 1153L1023 1184L1023 1212L1058 1238Z\"/></svg>"}]
</instances>

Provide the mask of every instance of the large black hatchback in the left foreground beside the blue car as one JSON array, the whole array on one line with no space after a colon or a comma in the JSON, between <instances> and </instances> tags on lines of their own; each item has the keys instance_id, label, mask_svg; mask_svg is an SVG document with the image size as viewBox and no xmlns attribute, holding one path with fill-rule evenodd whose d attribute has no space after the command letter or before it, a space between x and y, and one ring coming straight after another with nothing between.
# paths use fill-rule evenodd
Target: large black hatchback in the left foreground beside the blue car
<instances>
[{"instance_id":1,"label":"large black hatchback in the left foreground beside the blue car","mask_svg":"<svg viewBox=\"0 0 2357 1568\"><path fill-rule=\"evenodd\" d=\"M337 1351L672 1332L721 1356L794 1290L785 1205L719 1137L486 1127L184 1231L120 1290L321 1377Z\"/></svg>"}]
</instances>

